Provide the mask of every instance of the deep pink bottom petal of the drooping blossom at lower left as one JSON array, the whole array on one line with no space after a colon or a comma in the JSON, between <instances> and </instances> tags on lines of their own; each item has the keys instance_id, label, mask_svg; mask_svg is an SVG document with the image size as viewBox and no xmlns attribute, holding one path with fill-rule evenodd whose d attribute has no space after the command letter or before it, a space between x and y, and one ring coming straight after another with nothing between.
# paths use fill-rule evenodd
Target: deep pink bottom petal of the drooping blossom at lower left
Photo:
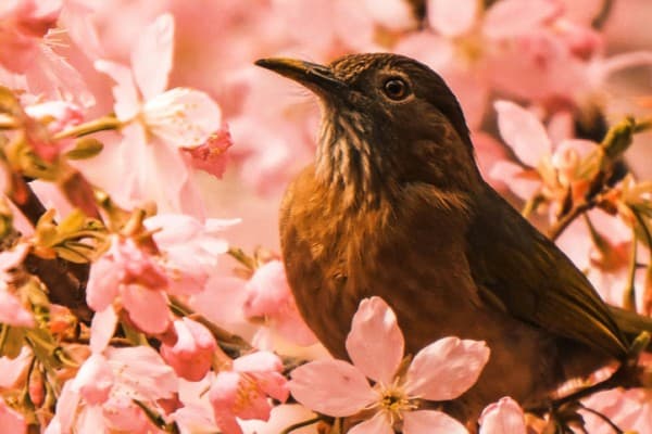
<instances>
[{"instance_id":1,"label":"deep pink bottom petal of the drooping blossom at lower left","mask_svg":"<svg viewBox=\"0 0 652 434\"><path fill-rule=\"evenodd\" d=\"M139 284L124 285L123 305L129 318L146 333L163 333L170 326L167 297L163 291L153 291Z\"/></svg>"}]
</instances>

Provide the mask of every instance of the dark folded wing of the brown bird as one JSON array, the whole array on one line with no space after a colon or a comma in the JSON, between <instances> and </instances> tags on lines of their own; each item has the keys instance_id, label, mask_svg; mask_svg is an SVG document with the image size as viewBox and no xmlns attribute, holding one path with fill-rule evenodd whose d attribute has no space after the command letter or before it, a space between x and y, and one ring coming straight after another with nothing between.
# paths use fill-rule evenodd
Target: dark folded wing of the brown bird
<instances>
[{"instance_id":1,"label":"dark folded wing of the brown bird","mask_svg":"<svg viewBox=\"0 0 652 434\"><path fill-rule=\"evenodd\" d=\"M523 321L623 358L626 337L570 259L491 188L477 205L466 256L480 296Z\"/></svg>"}]
</instances>

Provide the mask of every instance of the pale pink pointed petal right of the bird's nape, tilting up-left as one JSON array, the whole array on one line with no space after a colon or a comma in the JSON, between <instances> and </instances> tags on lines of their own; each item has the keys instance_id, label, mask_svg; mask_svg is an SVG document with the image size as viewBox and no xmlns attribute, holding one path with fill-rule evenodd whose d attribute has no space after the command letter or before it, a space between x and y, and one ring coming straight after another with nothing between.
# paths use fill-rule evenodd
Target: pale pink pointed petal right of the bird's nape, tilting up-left
<instances>
[{"instance_id":1,"label":"pale pink pointed petal right of the bird's nape, tilting up-left","mask_svg":"<svg viewBox=\"0 0 652 434\"><path fill-rule=\"evenodd\" d=\"M510 101L496 101L493 106L501 137L523 164L537 167L542 157L551 154L546 128L532 113Z\"/></svg>"}]
</instances>

